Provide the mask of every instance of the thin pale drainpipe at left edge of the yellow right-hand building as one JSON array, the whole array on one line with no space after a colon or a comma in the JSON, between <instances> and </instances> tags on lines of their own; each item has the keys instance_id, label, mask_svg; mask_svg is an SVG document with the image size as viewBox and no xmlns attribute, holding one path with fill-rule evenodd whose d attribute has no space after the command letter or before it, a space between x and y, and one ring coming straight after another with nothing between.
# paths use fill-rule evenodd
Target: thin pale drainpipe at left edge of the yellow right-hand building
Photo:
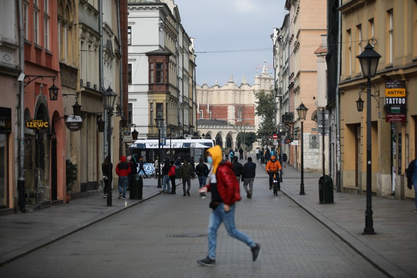
<instances>
[{"instance_id":1,"label":"thin pale drainpipe at left edge of the yellow right-hand building","mask_svg":"<svg viewBox=\"0 0 417 278\"><path fill-rule=\"evenodd\" d=\"M342 0L339 0L339 7L342 5ZM339 38L339 43L337 44L337 87L336 87L336 192L340 192L340 168L341 168L341 158L340 158L340 91L339 91L339 82L340 82L340 64L342 56L340 51L342 50L342 23L341 15L339 11L339 27L337 28L337 36Z\"/></svg>"}]
</instances>

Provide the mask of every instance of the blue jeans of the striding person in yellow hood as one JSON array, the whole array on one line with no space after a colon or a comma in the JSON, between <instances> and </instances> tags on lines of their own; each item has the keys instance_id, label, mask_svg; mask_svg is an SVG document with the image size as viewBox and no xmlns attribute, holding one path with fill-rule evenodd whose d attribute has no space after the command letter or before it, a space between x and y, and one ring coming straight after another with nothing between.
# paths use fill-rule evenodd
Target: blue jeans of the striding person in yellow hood
<instances>
[{"instance_id":1,"label":"blue jeans of the striding person in yellow hood","mask_svg":"<svg viewBox=\"0 0 417 278\"><path fill-rule=\"evenodd\" d=\"M236 226L234 226L234 209L236 206L233 204L230 206L229 212L225 212L225 204L220 203L216 209L213 209L213 211L210 214L209 218L209 257L212 259L216 258L216 245L217 245L217 237L216 233L217 230L220 227L220 224L222 222L224 223L226 227L226 231L228 234L240 241L243 241L246 243L249 247L255 247L255 242L247 236L245 233L240 232L236 229Z\"/></svg>"}]
</instances>

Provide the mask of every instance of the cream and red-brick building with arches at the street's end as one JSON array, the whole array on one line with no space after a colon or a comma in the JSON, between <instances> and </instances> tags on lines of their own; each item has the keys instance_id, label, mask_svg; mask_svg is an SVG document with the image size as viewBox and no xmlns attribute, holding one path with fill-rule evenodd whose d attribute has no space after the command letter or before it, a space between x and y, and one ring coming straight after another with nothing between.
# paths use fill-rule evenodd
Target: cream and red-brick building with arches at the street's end
<instances>
[{"instance_id":1,"label":"cream and red-brick building with arches at the street's end","mask_svg":"<svg viewBox=\"0 0 417 278\"><path fill-rule=\"evenodd\" d=\"M233 74L223 86L217 81L211 87L206 82L197 85L198 136L204 134L223 148L238 147L240 132L257 132L260 120L255 116L255 92L269 92L273 84L274 78L264 65L262 72L255 76L254 85L248 83L245 73L240 86L233 80Z\"/></svg>"}]
</instances>

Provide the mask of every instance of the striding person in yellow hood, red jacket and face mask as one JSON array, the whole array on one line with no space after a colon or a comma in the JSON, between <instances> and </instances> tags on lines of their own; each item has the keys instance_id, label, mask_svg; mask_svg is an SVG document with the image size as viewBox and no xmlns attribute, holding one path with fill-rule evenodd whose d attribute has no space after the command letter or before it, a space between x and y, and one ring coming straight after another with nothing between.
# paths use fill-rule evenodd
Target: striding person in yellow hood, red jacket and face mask
<instances>
[{"instance_id":1,"label":"striding person in yellow hood, red jacket and face mask","mask_svg":"<svg viewBox=\"0 0 417 278\"><path fill-rule=\"evenodd\" d=\"M216 264L216 233L222 222L230 236L245 242L252 251L252 259L256 260L260 245L234 225L235 202L240 201L239 184L233 173L232 163L223 161L222 149L216 145L207 150L207 162L211 164L209 183L203 186L200 193L211 192L210 208L213 209L209 218L209 255L197 263L205 266Z\"/></svg>"}]
</instances>

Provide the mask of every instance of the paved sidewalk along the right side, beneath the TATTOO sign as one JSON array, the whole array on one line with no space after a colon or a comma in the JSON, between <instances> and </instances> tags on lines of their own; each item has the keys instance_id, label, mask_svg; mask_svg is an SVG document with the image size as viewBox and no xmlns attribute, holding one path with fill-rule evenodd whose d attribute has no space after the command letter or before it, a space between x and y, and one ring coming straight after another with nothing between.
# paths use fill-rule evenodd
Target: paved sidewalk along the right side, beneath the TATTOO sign
<instances>
[{"instance_id":1,"label":"paved sidewalk along the right side, beneath the TATTOO sign","mask_svg":"<svg viewBox=\"0 0 417 278\"><path fill-rule=\"evenodd\" d=\"M260 162L258 162L261 164ZM262 165L265 168L265 164ZM292 166L283 168L281 192L338 235L357 253L389 277L417 277L417 214L412 201L372 197L374 235L363 235L366 195L333 191L333 204L319 204L322 173L301 174ZM335 185L336 181L333 181ZM272 194L272 193L271 193ZM308 232L308 231L306 231Z\"/></svg>"}]
</instances>

